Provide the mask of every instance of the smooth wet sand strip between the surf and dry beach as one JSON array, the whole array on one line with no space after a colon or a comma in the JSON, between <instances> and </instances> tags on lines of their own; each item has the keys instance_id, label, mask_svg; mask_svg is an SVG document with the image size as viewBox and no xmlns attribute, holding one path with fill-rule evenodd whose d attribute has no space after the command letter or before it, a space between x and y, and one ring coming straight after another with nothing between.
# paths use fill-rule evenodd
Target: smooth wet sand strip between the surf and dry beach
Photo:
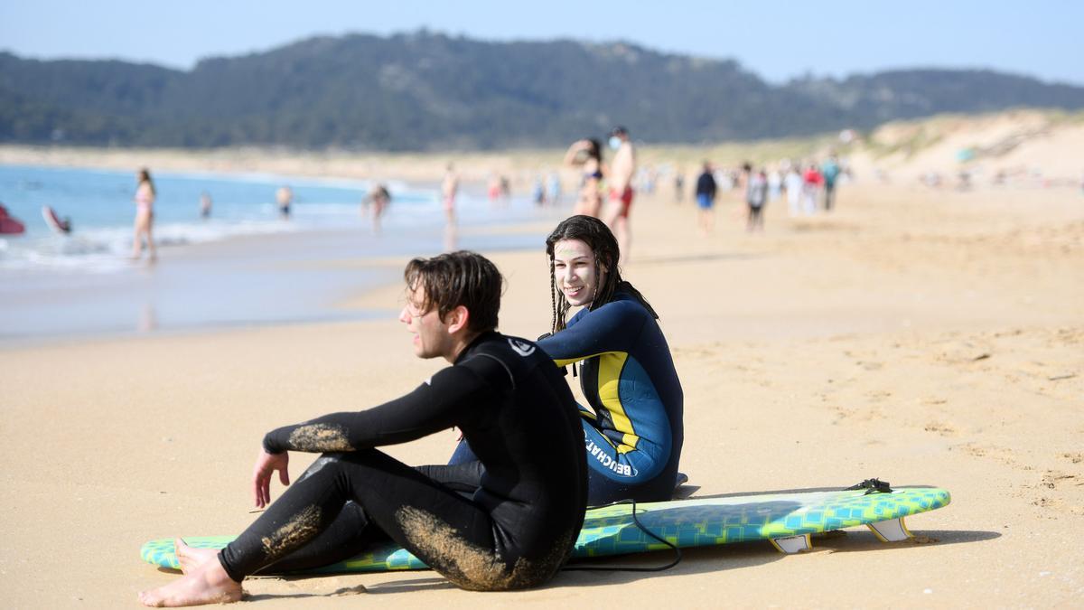
<instances>
[{"instance_id":1,"label":"smooth wet sand strip between the surf and dry beach","mask_svg":"<svg viewBox=\"0 0 1084 610\"><path fill-rule=\"evenodd\" d=\"M465 226L454 239L459 247L526 251L549 224ZM384 310L359 305L370 292L397 282L409 258L448 245L439 227L362 240L354 229L237 236L162 247L155 264L103 274L25 275L22 285L0 291L0 350L370 319Z\"/></svg>"}]
</instances>

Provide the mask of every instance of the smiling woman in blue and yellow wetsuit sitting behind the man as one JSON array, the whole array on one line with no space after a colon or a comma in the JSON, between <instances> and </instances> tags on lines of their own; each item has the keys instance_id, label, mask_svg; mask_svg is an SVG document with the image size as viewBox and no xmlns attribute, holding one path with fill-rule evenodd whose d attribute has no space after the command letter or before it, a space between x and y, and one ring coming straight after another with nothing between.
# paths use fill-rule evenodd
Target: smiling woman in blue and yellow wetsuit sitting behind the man
<instances>
[{"instance_id":1,"label":"smiling woman in blue and yellow wetsuit sitting behind the man","mask_svg":"<svg viewBox=\"0 0 1084 610\"><path fill-rule=\"evenodd\" d=\"M658 315L621 279L617 239L592 216L566 218L546 238L552 334L539 347L579 366L592 410L580 408L588 504L668 500L683 480L684 395ZM568 312L580 307L566 321ZM475 463L460 443L450 463Z\"/></svg>"}]
</instances>

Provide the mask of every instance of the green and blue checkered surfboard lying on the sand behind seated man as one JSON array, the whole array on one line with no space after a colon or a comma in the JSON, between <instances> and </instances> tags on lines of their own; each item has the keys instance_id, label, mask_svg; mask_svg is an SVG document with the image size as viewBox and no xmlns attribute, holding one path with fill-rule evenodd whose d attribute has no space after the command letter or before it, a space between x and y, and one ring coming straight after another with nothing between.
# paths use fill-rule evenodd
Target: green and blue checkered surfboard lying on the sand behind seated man
<instances>
[{"instance_id":1,"label":"green and blue checkered surfboard lying on the sand behind seated man","mask_svg":"<svg viewBox=\"0 0 1084 610\"><path fill-rule=\"evenodd\" d=\"M622 504L588 510L572 558L628 555L669 548L644 530L678 547L714 546L771 541L779 551L812 548L811 536L859 525L868 526L882 542L912 536L903 519L946 506L951 496L939 487L868 490L791 490L733 494L660 503ZM640 521L640 525L636 524ZM642 525L642 526L641 526ZM185 537L196 548L222 548L234 536ZM160 568L180 569L173 539L147 542L140 557ZM307 571L308 574L424 570L426 564L395 544L373 548L346 561Z\"/></svg>"}]
</instances>

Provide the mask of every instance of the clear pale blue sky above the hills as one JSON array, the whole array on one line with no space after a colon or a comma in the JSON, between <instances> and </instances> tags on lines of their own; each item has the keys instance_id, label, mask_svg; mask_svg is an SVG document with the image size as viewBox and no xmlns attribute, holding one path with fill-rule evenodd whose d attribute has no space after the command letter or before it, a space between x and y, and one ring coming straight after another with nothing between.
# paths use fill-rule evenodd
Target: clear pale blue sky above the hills
<instances>
[{"instance_id":1,"label":"clear pale blue sky above the hills","mask_svg":"<svg viewBox=\"0 0 1084 610\"><path fill-rule=\"evenodd\" d=\"M1084 86L1084 1L367 2L7 0L0 49L190 68L325 34L421 27L486 40L627 40L734 59L778 82L893 67L986 67ZM644 8L640 8L644 7Z\"/></svg>"}]
</instances>

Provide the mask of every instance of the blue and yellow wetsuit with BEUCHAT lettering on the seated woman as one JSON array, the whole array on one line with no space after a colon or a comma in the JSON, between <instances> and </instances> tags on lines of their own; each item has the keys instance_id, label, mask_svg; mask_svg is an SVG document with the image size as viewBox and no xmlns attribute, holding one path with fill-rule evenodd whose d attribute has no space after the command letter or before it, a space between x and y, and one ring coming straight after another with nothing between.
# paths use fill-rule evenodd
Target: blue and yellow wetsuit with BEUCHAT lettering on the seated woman
<instances>
[{"instance_id":1,"label":"blue and yellow wetsuit with BEUCHAT lettering on the seated woman","mask_svg":"<svg viewBox=\"0 0 1084 610\"><path fill-rule=\"evenodd\" d=\"M588 504L670 499L684 441L683 394L655 316L621 291L538 342L558 366L582 360Z\"/></svg>"}]
</instances>

